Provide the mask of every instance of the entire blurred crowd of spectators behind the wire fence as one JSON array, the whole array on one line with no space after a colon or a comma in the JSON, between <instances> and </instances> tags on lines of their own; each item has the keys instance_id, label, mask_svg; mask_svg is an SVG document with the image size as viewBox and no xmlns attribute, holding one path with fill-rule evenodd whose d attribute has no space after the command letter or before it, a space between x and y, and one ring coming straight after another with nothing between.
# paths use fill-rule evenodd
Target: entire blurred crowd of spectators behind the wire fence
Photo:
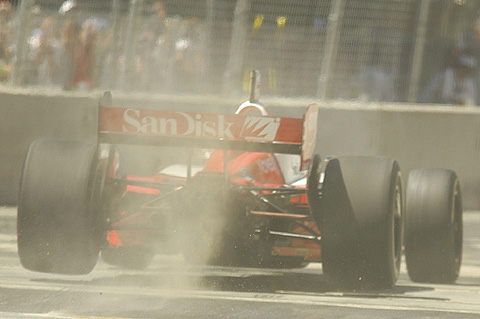
<instances>
[{"instance_id":1,"label":"entire blurred crowd of spectators behind the wire fence","mask_svg":"<svg viewBox=\"0 0 480 319\"><path fill-rule=\"evenodd\" d=\"M131 6L136 3L133 1L128 2L130 7L118 10L117 16L112 14L112 8L95 10L82 7L82 3L84 2L80 0L66 0L59 8L48 9L33 5L26 16L20 17L18 8L13 7L10 1L0 0L0 84L15 79L16 85L56 87L63 90L90 90L98 87L158 93L203 93L208 82L207 70L219 74L216 77L210 76L210 82L212 78L219 78L218 82L224 79L226 56L232 55L232 52L227 53L228 49L223 48L224 51L215 55L215 61L210 61L214 59L212 53L221 49L215 46L207 53L207 48L208 41L214 41L216 45L226 43L222 45L228 47L233 37L231 21L228 26L219 24L225 30L215 30L215 35L208 38L208 22L205 19L169 14L164 1L137 2L142 3L142 7L138 8L136 19L132 19L134 10ZM256 27L262 25L261 21L257 21L258 17L263 19L263 15L257 15L252 26L251 47L255 49L243 53L247 57L242 67L259 68L258 65L262 63L269 66L268 73L264 76L270 93L312 94L312 90L305 89L305 84L313 83L311 86L316 91L319 71L315 71L313 66L317 67L321 60L318 57L320 51L314 50L313 44L305 48L297 46L296 42L284 40L287 18L283 16L280 20L277 17L276 25L267 32L269 35L258 37ZM23 37L20 32L22 29L26 30ZM314 23L313 29L315 32L324 30L324 24ZM290 35L290 39L296 39L299 33L292 35L294 37ZM321 34L315 35L316 41L322 38ZM219 36L221 39L218 39ZM399 82L403 81L408 86L408 75L400 77L400 80L398 74L395 75L389 60L391 57L384 54L387 37L388 34L382 28L373 28L368 33L367 42L372 48L363 52L365 60L352 60L358 65L358 70L349 73L343 81L346 86L355 88L342 90L353 92L346 98L365 102L405 101L405 97L400 97L396 91L399 91ZM21 48L17 48L18 39L24 39L21 43L25 45ZM288 45L294 48L289 48ZM258 47L264 50L263 53L252 54L259 51ZM23 54L19 54L20 49L23 49ZM315 55L310 59L314 62L305 63L305 66L310 67L299 68L303 82L298 78L292 81L291 78L291 72L295 71L292 70L291 57L297 54L293 50L308 51ZM480 19L449 43L447 49L435 47L434 50L445 51L445 54L437 55L437 60L443 55L445 62L439 62L435 69L427 70L425 62L428 62L426 60L429 57L424 58L424 80L418 88L416 101L479 106ZM258 61L258 56L266 58ZM295 61L295 65L301 65L302 58L297 57L297 60L300 61ZM440 64L441 68L438 67ZM216 68L215 72L212 72L213 68ZM289 76L285 78L286 74ZM298 83L292 85L292 82ZM221 85L222 83L215 83L214 86Z\"/></svg>"}]
</instances>

